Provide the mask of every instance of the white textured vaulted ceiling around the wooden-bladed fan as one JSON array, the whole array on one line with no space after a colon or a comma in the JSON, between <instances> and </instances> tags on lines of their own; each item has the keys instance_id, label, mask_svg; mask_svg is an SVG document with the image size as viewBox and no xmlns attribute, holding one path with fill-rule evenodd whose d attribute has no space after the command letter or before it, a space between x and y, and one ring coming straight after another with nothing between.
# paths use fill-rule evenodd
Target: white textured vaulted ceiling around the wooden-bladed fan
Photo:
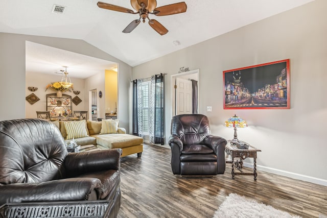
<instances>
[{"instance_id":1,"label":"white textured vaulted ceiling around the wooden-bladed fan","mask_svg":"<svg viewBox=\"0 0 327 218\"><path fill-rule=\"evenodd\" d=\"M94 0L0 0L0 32L82 39L136 66L311 1L185 0L185 13L149 15L169 30L160 36L147 22L131 33L122 33L138 15L101 9ZM132 9L129 0L102 2ZM157 7L178 2L157 0ZM65 7L63 14L52 13L55 4ZM175 45L175 40L180 44ZM54 58L50 59L56 61Z\"/></svg>"}]
</instances>

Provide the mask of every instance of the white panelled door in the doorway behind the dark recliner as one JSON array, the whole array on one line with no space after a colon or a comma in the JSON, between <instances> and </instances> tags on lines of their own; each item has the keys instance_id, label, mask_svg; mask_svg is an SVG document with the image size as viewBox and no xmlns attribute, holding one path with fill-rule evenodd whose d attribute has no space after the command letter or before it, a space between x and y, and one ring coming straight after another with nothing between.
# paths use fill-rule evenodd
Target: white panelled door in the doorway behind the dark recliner
<instances>
[{"instance_id":1,"label":"white panelled door in the doorway behind the dark recliner","mask_svg":"<svg viewBox=\"0 0 327 218\"><path fill-rule=\"evenodd\" d=\"M175 85L176 115L192 114L192 82L177 77Z\"/></svg>"}]
</instances>

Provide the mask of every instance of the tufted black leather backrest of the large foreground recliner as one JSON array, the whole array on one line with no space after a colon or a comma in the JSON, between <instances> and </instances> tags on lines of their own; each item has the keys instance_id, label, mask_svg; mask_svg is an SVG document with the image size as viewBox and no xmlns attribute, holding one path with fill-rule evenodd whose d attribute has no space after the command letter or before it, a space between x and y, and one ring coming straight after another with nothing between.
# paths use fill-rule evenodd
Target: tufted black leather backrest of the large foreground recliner
<instances>
[{"instance_id":1,"label":"tufted black leather backrest of the large foreground recliner","mask_svg":"<svg viewBox=\"0 0 327 218\"><path fill-rule=\"evenodd\" d=\"M0 122L0 155L1 185L35 183L62 178L67 150L52 123L14 119Z\"/></svg>"}]
</instances>

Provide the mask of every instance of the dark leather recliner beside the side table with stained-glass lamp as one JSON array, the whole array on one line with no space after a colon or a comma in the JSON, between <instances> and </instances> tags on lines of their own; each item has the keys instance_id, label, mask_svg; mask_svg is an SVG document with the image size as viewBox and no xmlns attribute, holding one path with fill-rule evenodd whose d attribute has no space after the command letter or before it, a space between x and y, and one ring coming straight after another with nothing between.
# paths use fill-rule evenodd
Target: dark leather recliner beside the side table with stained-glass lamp
<instances>
[{"instance_id":1,"label":"dark leather recliner beside the side table with stained-glass lamp","mask_svg":"<svg viewBox=\"0 0 327 218\"><path fill-rule=\"evenodd\" d=\"M209 176L225 172L226 139L211 135L209 120L202 114L172 118L169 137L173 174Z\"/></svg>"}]
</instances>

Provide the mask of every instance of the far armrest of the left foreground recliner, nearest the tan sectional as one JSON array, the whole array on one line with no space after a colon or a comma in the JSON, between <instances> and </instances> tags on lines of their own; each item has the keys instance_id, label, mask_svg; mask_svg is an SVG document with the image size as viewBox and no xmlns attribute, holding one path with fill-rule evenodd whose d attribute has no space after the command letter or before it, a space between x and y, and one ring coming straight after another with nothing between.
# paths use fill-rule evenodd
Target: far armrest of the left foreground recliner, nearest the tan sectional
<instances>
[{"instance_id":1,"label":"far armrest of the left foreground recliner, nearest the tan sectional","mask_svg":"<svg viewBox=\"0 0 327 218\"><path fill-rule=\"evenodd\" d=\"M122 149L69 153L64 161L66 173L76 176L108 169L119 170L121 155Z\"/></svg>"}]
</instances>

